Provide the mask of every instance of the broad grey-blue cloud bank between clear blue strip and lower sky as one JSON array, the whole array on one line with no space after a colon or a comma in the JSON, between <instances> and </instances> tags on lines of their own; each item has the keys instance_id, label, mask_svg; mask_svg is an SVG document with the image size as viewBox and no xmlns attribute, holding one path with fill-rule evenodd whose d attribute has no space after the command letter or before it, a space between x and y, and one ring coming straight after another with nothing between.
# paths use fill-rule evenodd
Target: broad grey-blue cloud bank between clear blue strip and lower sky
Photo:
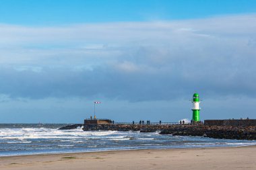
<instances>
[{"instance_id":1,"label":"broad grey-blue cloud bank between clear blue strip and lower sky","mask_svg":"<svg viewBox=\"0 0 256 170\"><path fill-rule=\"evenodd\" d=\"M155 101L197 91L210 98L255 98L255 23L255 15L242 15L92 24L61 32L58 28L28 28L26 32L27 28L16 27L13 32L18 32L18 38L9 35L13 51L6 44L1 48L0 93L11 98ZM7 27L2 36L9 32ZM24 32L28 38L19 42ZM40 48L31 47L33 43ZM42 48L47 43L52 48ZM73 48L65 49L69 44ZM29 68L17 69L23 66Z\"/></svg>"}]
</instances>

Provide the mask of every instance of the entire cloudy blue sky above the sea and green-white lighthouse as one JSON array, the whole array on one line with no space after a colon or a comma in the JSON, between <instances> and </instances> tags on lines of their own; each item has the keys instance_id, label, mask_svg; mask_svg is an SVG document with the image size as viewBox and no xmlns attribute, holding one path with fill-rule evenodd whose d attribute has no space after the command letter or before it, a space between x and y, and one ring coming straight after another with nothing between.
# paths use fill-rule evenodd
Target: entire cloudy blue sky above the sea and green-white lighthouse
<instances>
[{"instance_id":1,"label":"entire cloudy blue sky above the sea and green-white lighthouse","mask_svg":"<svg viewBox=\"0 0 256 170\"><path fill-rule=\"evenodd\" d=\"M0 123L256 118L254 0L0 0Z\"/></svg>"}]
</instances>

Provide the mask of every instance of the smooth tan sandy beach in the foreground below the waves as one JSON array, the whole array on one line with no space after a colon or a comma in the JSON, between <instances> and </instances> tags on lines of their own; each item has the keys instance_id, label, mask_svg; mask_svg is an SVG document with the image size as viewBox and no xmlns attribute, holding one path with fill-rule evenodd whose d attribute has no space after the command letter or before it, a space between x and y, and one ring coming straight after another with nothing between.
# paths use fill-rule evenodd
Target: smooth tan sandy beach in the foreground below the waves
<instances>
[{"instance_id":1,"label":"smooth tan sandy beach in the foreground below the waves","mask_svg":"<svg viewBox=\"0 0 256 170\"><path fill-rule=\"evenodd\" d=\"M256 146L0 157L0 169L256 169Z\"/></svg>"}]
</instances>

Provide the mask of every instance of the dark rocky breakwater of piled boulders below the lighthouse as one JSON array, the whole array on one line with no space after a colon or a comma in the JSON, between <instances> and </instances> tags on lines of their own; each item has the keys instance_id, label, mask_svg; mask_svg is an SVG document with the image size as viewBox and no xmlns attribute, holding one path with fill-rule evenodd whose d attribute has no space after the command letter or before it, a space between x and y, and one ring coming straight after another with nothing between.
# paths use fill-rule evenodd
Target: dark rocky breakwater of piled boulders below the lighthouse
<instances>
[{"instance_id":1,"label":"dark rocky breakwater of piled boulders below the lighthouse","mask_svg":"<svg viewBox=\"0 0 256 170\"><path fill-rule=\"evenodd\" d=\"M74 124L59 128L75 129L84 126L84 131L115 130L156 132L173 136L205 136L209 138L227 138L238 140L256 140L256 126L205 126L205 125L142 125L142 124Z\"/></svg>"}]
</instances>

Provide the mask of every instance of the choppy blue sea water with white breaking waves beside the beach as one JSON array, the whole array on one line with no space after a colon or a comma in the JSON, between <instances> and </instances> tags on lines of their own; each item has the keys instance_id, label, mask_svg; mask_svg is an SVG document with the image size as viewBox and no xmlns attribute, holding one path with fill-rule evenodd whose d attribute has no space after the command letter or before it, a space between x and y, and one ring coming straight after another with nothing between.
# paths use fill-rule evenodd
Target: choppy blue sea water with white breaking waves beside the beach
<instances>
[{"instance_id":1,"label":"choppy blue sea water with white breaking waves beside the beach","mask_svg":"<svg viewBox=\"0 0 256 170\"><path fill-rule=\"evenodd\" d=\"M0 157L145 148L194 148L256 145L256 140L172 136L158 132L58 130L66 124L0 124Z\"/></svg>"}]
</instances>

